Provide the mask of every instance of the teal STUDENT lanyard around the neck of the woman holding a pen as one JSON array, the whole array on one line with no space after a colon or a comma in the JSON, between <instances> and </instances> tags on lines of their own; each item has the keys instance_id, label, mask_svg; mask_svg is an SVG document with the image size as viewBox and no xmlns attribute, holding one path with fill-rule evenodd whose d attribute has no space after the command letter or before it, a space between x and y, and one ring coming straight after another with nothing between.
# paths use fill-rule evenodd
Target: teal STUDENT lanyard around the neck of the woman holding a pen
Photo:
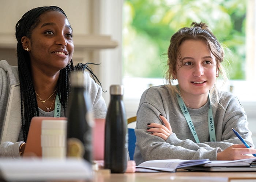
<instances>
[{"instance_id":1,"label":"teal STUDENT lanyard around the neck of the woman holding a pen","mask_svg":"<svg viewBox=\"0 0 256 182\"><path fill-rule=\"evenodd\" d=\"M198 136L196 134L196 129L195 129L194 124L192 122L192 119L189 115L186 104L184 103L180 94L177 93L176 96L177 96L177 100L178 100L178 104L180 106L180 109L181 109L185 119L187 120L188 126L190 128L190 131L193 134L193 137L195 138L196 143L200 143L200 141L198 139ZM208 95L208 98L210 99L209 95ZM214 127L214 120L213 120L213 115L212 115L211 102L210 102L210 106L209 106L209 109L208 109L208 128L209 128L209 135L210 135L211 142L215 142L216 141L216 136L215 136L215 127Z\"/></svg>"}]
</instances>

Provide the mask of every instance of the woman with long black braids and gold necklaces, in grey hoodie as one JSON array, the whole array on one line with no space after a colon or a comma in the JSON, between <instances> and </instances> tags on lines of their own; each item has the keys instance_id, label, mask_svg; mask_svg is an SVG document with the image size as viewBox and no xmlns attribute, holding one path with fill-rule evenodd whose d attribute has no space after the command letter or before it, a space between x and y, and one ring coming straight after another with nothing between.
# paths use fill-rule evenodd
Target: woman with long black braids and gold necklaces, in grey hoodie
<instances>
[{"instance_id":1,"label":"woman with long black braids and gold necklaces, in grey hoodie","mask_svg":"<svg viewBox=\"0 0 256 182\"><path fill-rule=\"evenodd\" d=\"M94 117L106 115L101 86L88 63L73 66L72 28L61 8L26 12L16 24L16 39L18 67L0 62L0 157L20 156L33 116L66 116L72 70L89 70L93 79L87 71L84 74ZM54 109L57 105L60 114Z\"/></svg>"}]
</instances>

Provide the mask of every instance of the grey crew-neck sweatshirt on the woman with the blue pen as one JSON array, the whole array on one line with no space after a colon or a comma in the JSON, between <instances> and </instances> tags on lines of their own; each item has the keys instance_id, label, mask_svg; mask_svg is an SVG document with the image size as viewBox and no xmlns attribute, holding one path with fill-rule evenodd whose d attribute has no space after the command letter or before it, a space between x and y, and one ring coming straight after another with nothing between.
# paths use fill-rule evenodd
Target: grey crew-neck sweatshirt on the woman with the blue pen
<instances>
[{"instance_id":1,"label":"grey crew-neck sweatshirt on the woman with the blue pen","mask_svg":"<svg viewBox=\"0 0 256 182\"><path fill-rule=\"evenodd\" d=\"M242 138L254 147L251 131L244 108L236 96L230 92L219 92L222 107L212 107L216 142L211 142L208 130L208 102L198 109L188 107L200 143L196 143L187 121L178 105L176 95L167 86L148 88L140 99L135 128L136 147L134 160L136 165L156 159L210 159L217 160L217 153L233 144L240 144L234 128ZM167 140L147 132L147 123L162 123L162 114L172 127L173 134Z\"/></svg>"}]
</instances>

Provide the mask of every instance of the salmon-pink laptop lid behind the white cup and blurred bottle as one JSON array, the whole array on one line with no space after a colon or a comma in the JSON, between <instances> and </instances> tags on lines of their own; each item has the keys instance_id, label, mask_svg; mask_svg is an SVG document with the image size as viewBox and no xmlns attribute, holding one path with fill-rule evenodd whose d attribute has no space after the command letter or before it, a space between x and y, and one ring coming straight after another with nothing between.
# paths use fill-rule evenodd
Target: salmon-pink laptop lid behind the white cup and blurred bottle
<instances>
[{"instance_id":1,"label":"salmon-pink laptop lid behind the white cup and blurred bottle","mask_svg":"<svg viewBox=\"0 0 256 182\"><path fill-rule=\"evenodd\" d=\"M29 133L24 151L24 157L42 156L41 148L41 124L42 120L67 119L54 117L33 117L30 123ZM93 159L104 159L104 138L105 138L105 119L94 119L93 127Z\"/></svg>"}]
</instances>

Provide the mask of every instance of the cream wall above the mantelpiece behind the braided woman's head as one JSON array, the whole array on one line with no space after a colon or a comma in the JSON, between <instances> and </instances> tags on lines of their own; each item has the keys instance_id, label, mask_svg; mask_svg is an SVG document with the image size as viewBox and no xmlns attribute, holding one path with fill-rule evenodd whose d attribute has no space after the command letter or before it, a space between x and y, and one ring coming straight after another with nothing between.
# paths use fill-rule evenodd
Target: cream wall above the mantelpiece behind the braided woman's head
<instances>
[{"instance_id":1,"label":"cream wall above the mantelpiece behind the braided woman's head","mask_svg":"<svg viewBox=\"0 0 256 182\"><path fill-rule=\"evenodd\" d=\"M15 32L17 21L32 8L56 5L67 14L75 33L91 33L91 2L92 0L0 0L0 32Z\"/></svg>"}]
</instances>

